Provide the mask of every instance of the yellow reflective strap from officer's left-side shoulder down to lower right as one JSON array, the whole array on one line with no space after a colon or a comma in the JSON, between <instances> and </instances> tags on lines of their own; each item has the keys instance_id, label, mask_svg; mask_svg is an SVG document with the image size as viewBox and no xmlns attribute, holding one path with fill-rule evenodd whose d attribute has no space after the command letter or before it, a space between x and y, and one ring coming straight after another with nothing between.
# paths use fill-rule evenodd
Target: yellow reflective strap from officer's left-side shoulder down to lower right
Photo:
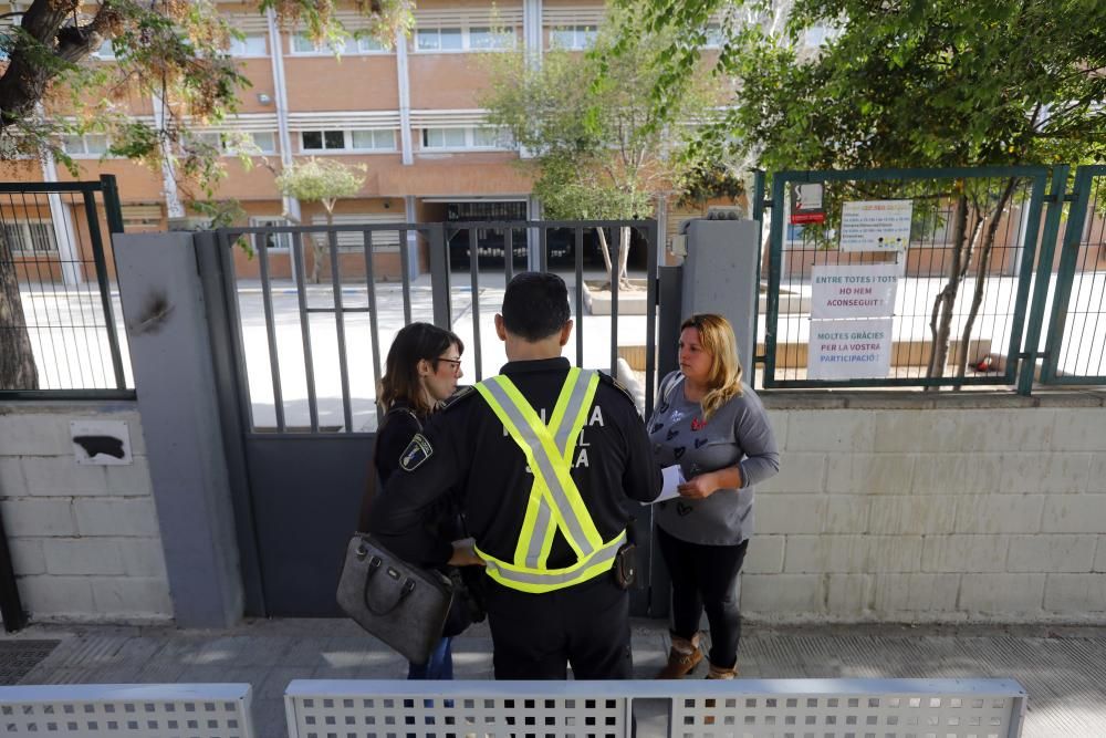
<instances>
[{"instance_id":1,"label":"yellow reflective strap from officer's left-side shoulder down to lower right","mask_svg":"<svg viewBox=\"0 0 1106 738\"><path fill-rule=\"evenodd\" d=\"M541 418L538 417L538 413L534 412L534 408L530 406L526 398L522 396L522 393L519 392L519 388L509 378L505 376L495 376L482 384L494 384L507 395L513 405L512 409L519 413L523 422L525 422L528 429L533 434L534 439L541 445L541 450L544 451L541 457L535 453L536 449L531 449L528 454L528 459L531 460L530 468L535 477L540 476L542 481L545 482L546 489L543 491L546 492L546 500L550 502L553 517L556 518L557 526L568 541L568 545L572 547L577 557L586 557L603 544L603 539L599 537L595 523L592 522L592 517L587 513L587 508L584 506L580 497L580 491L576 489L576 482L572 480L572 476L568 474L568 465L565 464L564 458L557 453L549 428L545 427ZM505 408L504 415L507 415ZM515 428L515 432L519 432L519 429ZM529 444L525 443L521 432L518 433L515 440L520 446L529 448ZM562 509L559 503L560 500L552 493L552 485L550 482L553 480L549 479L549 474L554 476L557 482L557 491L564 497L564 502L568 505L570 510ZM570 518L566 513L575 514L572 514ZM577 534L584 540L578 540Z\"/></svg>"}]
</instances>

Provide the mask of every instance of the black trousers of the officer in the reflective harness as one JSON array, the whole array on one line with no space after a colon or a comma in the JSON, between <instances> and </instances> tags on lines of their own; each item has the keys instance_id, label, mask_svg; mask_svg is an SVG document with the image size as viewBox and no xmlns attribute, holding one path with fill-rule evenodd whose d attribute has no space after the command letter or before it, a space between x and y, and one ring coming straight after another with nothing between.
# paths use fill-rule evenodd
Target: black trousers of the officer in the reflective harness
<instances>
[{"instance_id":1,"label":"black trousers of the officer in the reflective harness","mask_svg":"<svg viewBox=\"0 0 1106 738\"><path fill-rule=\"evenodd\" d=\"M614 574L544 594L488 580L497 679L628 679L629 593Z\"/></svg>"}]
</instances>

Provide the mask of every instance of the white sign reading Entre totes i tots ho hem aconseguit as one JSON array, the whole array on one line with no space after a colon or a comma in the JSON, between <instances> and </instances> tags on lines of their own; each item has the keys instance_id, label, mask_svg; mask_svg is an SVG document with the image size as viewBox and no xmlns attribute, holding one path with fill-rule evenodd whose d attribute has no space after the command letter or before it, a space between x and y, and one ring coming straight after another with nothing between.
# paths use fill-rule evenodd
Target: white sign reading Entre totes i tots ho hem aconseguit
<instances>
[{"instance_id":1,"label":"white sign reading Entre totes i tots ho hem aconseguit","mask_svg":"<svg viewBox=\"0 0 1106 738\"><path fill-rule=\"evenodd\" d=\"M898 278L897 264L814 264L811 318L890 318Z\"/></svg>"}]
</instances>

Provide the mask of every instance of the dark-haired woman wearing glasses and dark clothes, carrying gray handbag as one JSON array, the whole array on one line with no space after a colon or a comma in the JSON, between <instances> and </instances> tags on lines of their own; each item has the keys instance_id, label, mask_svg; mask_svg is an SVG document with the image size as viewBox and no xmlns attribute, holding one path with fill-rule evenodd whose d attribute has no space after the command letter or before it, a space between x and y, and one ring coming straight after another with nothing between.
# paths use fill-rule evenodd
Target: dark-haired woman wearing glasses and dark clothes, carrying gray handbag
<instances>
[{"instance_id":1,"label":"dark-haired woman wearing glasses and dark clothes, carrying gray handbag","mask_svg":"<svg viewBox=\"0 0 1106 738\"><path fill-rule=\"evenodd\" d=\"M455 333L430 323L411 323L396 334L388 350L378 393L384 417L377 429L374 469L369 469L371 474L375 470L379 476L377 489L383 489L388 478L399 469L404 450L415 435L421 433L430 415L457 391L457 381L462 375L463 351L465 344ZM358 530L368 530L369 496L366 495L362 505ZM442 499L447 505L430 512L428 527L436 531L440 540L452 542L465 539L460 513L448 505L448 496ZM455 603L460 606L455 596ZM409 664L408 679L453 678L451 640L468 624L453 610L429 661L426 664Z\"/></svg>"}]
</instances>

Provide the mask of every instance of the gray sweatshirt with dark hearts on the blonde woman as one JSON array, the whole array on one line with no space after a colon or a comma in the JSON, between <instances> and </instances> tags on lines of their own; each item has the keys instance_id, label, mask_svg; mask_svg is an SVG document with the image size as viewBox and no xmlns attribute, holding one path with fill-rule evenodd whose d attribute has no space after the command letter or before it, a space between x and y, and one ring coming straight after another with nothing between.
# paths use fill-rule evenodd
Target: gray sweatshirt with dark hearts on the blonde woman
<instances>
[{"instance_id":1,"label":"gray sweatshirt with dark hearts on the blonde woman","mask_svg":"<svg viewBox=\"0 0 1106 738\"><path fill-rule=\"evenodd\" d=\"M703 423L702 406L684 396L684 375L672 372L660 383L649 418L653 454L661 466L679 464L691 479L738 466L740 489L719 489L702 500L677 498L657 503L657 524L689 543L737 545L753 531L753 488L780 470L780 453L757 393L742 393Z\"/></svg>"}]
</instances>

